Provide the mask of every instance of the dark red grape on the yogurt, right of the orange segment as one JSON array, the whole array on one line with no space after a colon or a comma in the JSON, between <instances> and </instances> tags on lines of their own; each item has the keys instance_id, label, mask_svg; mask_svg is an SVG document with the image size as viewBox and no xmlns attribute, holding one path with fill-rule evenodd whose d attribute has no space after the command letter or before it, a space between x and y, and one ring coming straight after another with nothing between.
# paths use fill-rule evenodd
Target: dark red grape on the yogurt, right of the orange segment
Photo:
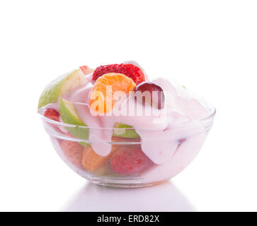
<instances>
[{"instance_id":1,"label":"dark red grape on the yogurt, right of the orange segment","mask_svg":"<svg viewBox=\"0 0 257 226\"><path fill-rule=\"evenodd\" d=\"M141 93L144 93L145 91L149 91L150 94L150 102L148 103L151 106L155 106L158 109L161 109L164 107L164 90L159 85L156 85L155 83L151 82L144 82L144 83L139 83L137 85L135 91L139 91ZM153 92L155 93L153 95ZM137 94L137 93L136 93ZM143 104L146 98L143 98Z\"/></svg>"}]
</instances>

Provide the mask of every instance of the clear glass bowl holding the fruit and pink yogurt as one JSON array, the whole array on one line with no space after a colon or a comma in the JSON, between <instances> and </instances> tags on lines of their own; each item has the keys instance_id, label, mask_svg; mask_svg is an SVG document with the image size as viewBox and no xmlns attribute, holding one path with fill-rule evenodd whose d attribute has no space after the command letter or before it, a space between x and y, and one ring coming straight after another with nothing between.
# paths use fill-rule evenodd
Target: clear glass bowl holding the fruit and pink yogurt
<instances>
[{"instance_id":1,"label":"clear glass bowl holding the fruit and pink yogurt","mask_svg":"<svg viewBox=\"0 0 257 226\"><path fill-rule=\"evenodd\" d=\"M167 133L166 136L157 137L152 141L154 142L155 147L159 147L156 148L158 149L156 152L159 153L161 152L161 147L164 143L166 143L166 145L171 145L171 155L166 157L165 161L156 164L147 157L147 167L142 167L141 171L139 170L139 172L132 174L125 174L122 173L122 171L120 173L113 170L113 165L111 165L110 162L114 161L113 156L117 155L117 152L141 150L141 138L122 137L122 133L130 133L134 130L133 128L125 128L122 129L122 131L118 131L118 133L114 133L118 134L118 136L113 135L112 141L106 142L106 144L108 143L108 145L111 145L111 154L104 157L92 152L93 149L91 150L91 153L88 154L91 142L86 139L75 138L68 131L94 130L99 133L108 133L110 131L113 133L113 129L74 126L53 121L44 117L42 114L40 114L40 116L45 131L49 134L59 157L61 157L62 160L81 177L86 178L89 182L104 186L140 187L159 184L167 179L171 179L192 162L200 151L200 148L212 127L216 113L214 107L210 105L206 105L205 107L210 111L210 114L207 117L198 121L176 125L169 130L170 133ZM176 138L176 134L184 134L185 136L183 136L183 138L178 138L179 136ZM89 146L86 147L87 145ZM143 159L143 161L145 161L145 159ZM97 169L96 167L92 167L91 162L98 162ZM137 165L139 163L140 162L137 162ZM124 162L123 166L130 167L130 165L127 166L127 162Z\"/></svg>"}]
</instances>

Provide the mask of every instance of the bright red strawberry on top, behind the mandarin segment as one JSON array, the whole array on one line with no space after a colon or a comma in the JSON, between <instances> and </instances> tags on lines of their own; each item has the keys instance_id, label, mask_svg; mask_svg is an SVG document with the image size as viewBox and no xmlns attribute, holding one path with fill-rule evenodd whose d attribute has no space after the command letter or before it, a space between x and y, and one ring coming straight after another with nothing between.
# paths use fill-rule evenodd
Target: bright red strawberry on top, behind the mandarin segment
<instances>
[{"instance_id":1,"label":"bright red strawberry on top, behind the mandarin segment","mask_svg":"<svg viewBox=\"0 0 257 226\"><path fill-rule=\"evenodd\" d=\"M138 85L144 82L144 73L138 66L133 64L109 64L98 66L93 72L93 81L103 76L105 73L123 73L125 76L132 78Z\"/></svg>"}]
</instances>

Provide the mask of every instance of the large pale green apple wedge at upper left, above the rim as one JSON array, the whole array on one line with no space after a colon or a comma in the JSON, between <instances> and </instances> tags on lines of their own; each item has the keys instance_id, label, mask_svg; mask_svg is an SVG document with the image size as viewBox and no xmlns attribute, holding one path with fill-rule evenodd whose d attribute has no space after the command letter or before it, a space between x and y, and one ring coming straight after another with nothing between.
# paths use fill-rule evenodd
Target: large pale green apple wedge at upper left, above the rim
<instances>
[{"instance_id":1,"label":"large pale green apple wedge at upper left, above the rim","mask_svg":"<svg viewBox=\"0 0 257 226\"><path fill-rule=\"evenodd\" d=\"M81 69L76 69L60 76L48 84L42 92L38 102L38 109L50 103L57 102L59 97L62 97L62 95L83 84L85 81L86 78Z\"/></svg>"}]
</instances>

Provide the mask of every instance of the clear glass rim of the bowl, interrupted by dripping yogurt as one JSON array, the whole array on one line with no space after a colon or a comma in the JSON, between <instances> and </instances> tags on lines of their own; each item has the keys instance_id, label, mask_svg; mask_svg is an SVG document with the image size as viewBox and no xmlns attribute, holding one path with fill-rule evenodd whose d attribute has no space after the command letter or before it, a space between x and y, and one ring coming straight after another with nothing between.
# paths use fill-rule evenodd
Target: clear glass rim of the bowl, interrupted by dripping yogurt
<instances>
[{"instance_id":1,"label":"clear glass rim of the bowl, interrupted by dripping yogurt","mask_svg":"<svg viewBox=\"0 0 257 226\"><path fill-rule=\"evenodd\" d=\"M207 108L210 112L210 114L208 114L206 117L203 117L201 119L193 119L192 121L189 122L185 122L183 124L176 124L175 126L173 126L173 129L179 128L181 126L190 126L192 125L195 121L201 121L202 124L207 123L208 121L211 121L212 119L214 119L215 114L216 114L216 108L213 107L212 105L210 105L207 102L203 102L203 105L205 108ZM73 125L73 124L66 124L64 122L61 121L55 121L52 119L49 119L47 117L45 117L43 114L41 114L38 110L38 114L40 114L40 117L42 118L42 120L47 121L50 124L55 124L57 126L65 126L65 127L74 127L74 128L84 128L84 129L128 129L128 130L132 130L132 129L137 129L135 127L125 127L125 128L115 128L115 127L96 127L96 126L79 126L79 125ZM144 131L144 129L139 129L141 131Z\"/></svg>"}]
</instances>

